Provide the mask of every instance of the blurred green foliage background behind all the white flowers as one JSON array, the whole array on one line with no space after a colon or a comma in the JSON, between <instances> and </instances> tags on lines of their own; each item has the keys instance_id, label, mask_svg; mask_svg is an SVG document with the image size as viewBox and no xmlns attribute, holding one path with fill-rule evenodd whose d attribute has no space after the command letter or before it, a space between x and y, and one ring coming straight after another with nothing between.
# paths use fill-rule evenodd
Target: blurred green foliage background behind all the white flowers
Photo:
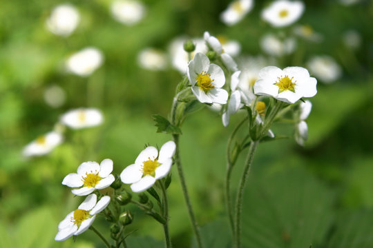
<instances>
[{"instance_id":1,"label":"blurred green foliage background behind all the white flowers","mask_svg":"<svg viewBox=\"0 0 373 248\"><path fill-rule=\"evenodd\" d=\"M46 29L46 19L60 1L12 0L0 3L0 247L104 247L90 231L55 242L57 225L82 198L61 181L84 161L111 158L115 173L135 161L144 144L162 145L171 136L157 134L152 114L169 113L175 86L182 75L140 68L137 54L147 47L168 52L175 37L201 37L208 30L238 41L238 56L265 55L260 38L268 32L289 34L260 19L269 1L228 27L219 19L229 1L144 0L146 15L126 26L113 19L111 1L70 1L81 22L70 37ZM62 2L65 3L65 2ZM346 6L339 1L305 1L299 24L323 36L314 43L296 38L293 54L276 60L280 67L298 65L315 54L328 54L341 65L334 83L318 82L307 119L309 141L294 139L262 143L254 159L242 216L244 247L373 247L373 19L372 1ZM356 30L358 48L343 43L343 33ZM95 46L104 63L86 78L66 74L66 57ZM171 55L170 55L171 56ZM58 85L66 102L50 107L44 92ZM90 85L90 86L89 86ZM89 87L88 87L89 86ZM50 154L23 158L22 149L50 132L59 116L77 107L97 107L105 121L99 127L67 130L64 143ZM232 116L224 128L218 112L204 108L185 121L181 156L193 207L207 247L230 247L224 209L224 151L229 133L242 118ZM292 134L278 124L276 134ZM238 182L242 159L233 175ZM193 246L178 175L169 188L170 229L174 247ZM233 183L235 188L236 183ZM130 207L136 230L131 247L162 247L162 227ZM108 224L97 218L108 235Z\"/></svg>"}]
</instances>

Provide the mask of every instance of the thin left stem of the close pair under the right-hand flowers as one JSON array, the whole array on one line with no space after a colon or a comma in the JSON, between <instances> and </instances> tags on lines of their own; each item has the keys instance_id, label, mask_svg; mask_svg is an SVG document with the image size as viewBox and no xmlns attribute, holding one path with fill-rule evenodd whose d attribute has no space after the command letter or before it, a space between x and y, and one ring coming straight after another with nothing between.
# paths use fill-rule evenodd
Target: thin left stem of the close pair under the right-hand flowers
<instances>
[{"instance_id":1,"label":"thin left stem of the close pair under the right-hand flowers","mask_svg":"<svg viewBox=\"0 0 373 248\"><path fill-rule=\"evenodd\" d=\"M235 164L236 161L231 160L231 143L233 141L233 137L236 136L238 130L240 127L247 121L249 117L247 116L244 118L236 128L233 130L231 133L231 136L229 136L228 143L227 143L227 174L225 177L225 200L226 200L226 205L227 205L227 212L228 212L228 217L229 217L229 224L231 225L231 231L232 231L232 236L234 236L234 223L233 223L233 211L232 211L232 205L231 205L231 172L233 169L233 165Z\"/></svg>"}]
</instances>

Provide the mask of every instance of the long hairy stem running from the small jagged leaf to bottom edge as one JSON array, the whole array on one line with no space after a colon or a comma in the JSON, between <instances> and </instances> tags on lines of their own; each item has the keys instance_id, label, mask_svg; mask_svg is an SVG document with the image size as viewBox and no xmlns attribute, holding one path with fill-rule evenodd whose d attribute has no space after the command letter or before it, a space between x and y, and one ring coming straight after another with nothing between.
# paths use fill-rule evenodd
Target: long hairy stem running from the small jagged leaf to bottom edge
<instances>
[{"instance_id":1,"label":"long hairy stem running from the small jagged leaf to bottom edge","mask_svg":"<svg viewBox=\"0 0 373 248\"><path fill-rule=\"evenodd\" d=\"M197 221L195 220L193 208L191 206L191 200L189 198L188 190L187 190L187 184L185 183L184 173L182 172L182 164L180 161L180 151L179 151L179 134L173 134L173 141L176 144L176 151L175 151L175 163L178 167L178 173L180 178L180 183L182 187L182 193L184 194L185 203L187 203L187 208L189 212L189 218L191 219L193 231L195 234L195 239L197 240L197 245L199 248L202 248L202 241L200 236L200 230L198 229Z\"/></svg>"}]
</instances>

